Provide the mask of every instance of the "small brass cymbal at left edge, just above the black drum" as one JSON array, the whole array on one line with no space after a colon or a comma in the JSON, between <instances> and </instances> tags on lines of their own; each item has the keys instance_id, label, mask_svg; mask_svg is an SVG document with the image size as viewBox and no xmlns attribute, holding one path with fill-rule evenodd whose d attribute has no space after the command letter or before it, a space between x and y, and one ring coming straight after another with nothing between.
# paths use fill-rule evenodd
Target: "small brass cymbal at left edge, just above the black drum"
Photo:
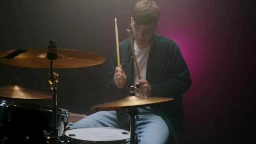
<instances>
[{"instance_id":1,"label":"small brass cymbal at left edge, just above the black drum","mask_svg":"<svg viewBox=\"0 0 256 144\"><path fill-rule=\"evenodd\" d=\"M47 99L52 98L50 94L23 88L19 85L0 86L0 96L7 98L23 99Z\"/></svg>"}]
</instances>

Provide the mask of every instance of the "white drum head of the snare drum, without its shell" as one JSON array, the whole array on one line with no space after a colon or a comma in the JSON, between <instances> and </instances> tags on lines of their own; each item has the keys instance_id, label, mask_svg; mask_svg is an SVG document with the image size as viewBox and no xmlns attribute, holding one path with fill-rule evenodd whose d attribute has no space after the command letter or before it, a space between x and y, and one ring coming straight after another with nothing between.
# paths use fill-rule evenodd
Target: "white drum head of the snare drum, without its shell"
<instances>
[{"instance_id":1,"label":"white drum head of the snare drum, without its shell","mask_svg":"<svg viewBox=\"0 0 256 144\"><path fill-rule=\"evenodd\" d=\"M130 138L130 132L118 128L89 127L65 131L67 137L84 141L120 141Z\"/></svg>"}]
</instances>

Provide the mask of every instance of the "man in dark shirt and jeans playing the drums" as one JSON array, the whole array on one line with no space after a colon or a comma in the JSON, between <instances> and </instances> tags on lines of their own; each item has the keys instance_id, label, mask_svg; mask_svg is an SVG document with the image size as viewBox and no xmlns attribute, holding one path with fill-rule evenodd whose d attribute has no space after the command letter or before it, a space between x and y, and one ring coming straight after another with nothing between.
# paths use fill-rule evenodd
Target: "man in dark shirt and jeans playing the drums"
<instances>
[{"instance_id":1,"label":"man in dark shirt and jeans playing the drums","mask_svg":"<svg viewBox=\"0 0 256 144\"><path fill-rule=\"evenodd\" d=\"M159 7L153 0L135 4L131 16L135 55L141 79L135 67L131 72L129 39L119 44L120 67L114 52L106 84L128 96L131 85L139 83L143 97L174 98L167 105L138 108L135 133L138 144L166 144L169 137L180 138L183 128L182 94L191 85L190 73L177 43L156 34L159 26ZM124 98L121 97L121 98ZM76 122L70 129L85 127L112 127L129 131L130 117L125 111L99 111Z\"/></svg>"}]
</instances>

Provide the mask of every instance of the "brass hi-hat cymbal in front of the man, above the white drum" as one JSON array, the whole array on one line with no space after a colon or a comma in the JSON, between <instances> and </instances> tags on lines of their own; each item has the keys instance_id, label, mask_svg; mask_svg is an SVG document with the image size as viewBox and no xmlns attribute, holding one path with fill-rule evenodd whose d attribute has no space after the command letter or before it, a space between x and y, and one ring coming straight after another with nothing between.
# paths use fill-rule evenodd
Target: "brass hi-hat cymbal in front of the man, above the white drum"
<instances>
[{"instance_id":1,"label":"brass hi-hat cymbal in front of the man, above the white drum","mask_svg":"<svg viewBox=\"0 0 256 144\"><path fill-rule=\"evenodd\" d=\"M161 97L148 97L142 98L139 96L128 96L118 101L110 101L100 105L95 105L92 110L95 111L110 111L119 109L139 108L146 107L153 104L171 101L173 98L161 98Z\"/></svg>"}]
</instances>

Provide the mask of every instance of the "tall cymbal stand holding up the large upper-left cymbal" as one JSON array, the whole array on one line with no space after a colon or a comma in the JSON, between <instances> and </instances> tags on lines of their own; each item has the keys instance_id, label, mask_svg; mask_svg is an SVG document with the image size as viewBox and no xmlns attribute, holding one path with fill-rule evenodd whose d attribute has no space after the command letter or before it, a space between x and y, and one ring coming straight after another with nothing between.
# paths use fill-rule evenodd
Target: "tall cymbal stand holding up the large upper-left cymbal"
<instances>
[{"instance_id":1,"label":"tall cymbal stand holding up the large upper-left cymbal","mask_svg":"<svg viewBox=\"0 0 256 144\"><path fill-rule=\"evenodd\" d=\"M49 41L49 46L48 48L57 48L56 42L54 41ZM49 71L49 77L48 77L48 82L50 85L51 90L53 90L53 127L51 131L51 139L52 139L52 144L57 144L58 143L58 138L59 138L59 130L57 128L57 95L56 95L56 90L57 90L57 82L59 82L59 75L53 72L53 60L57 59L57 54L56 53L47 53L47 59L51 61L51 68Z\"/></svg>"}]
</instances>

